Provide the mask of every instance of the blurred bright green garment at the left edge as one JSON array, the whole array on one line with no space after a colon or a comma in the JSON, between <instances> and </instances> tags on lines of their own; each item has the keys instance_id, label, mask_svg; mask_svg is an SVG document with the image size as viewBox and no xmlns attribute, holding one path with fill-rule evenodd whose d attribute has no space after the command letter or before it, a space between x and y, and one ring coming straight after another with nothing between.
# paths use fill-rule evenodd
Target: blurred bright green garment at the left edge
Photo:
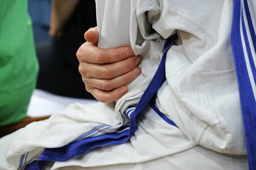
<instances>
[{"instance_id":1,"label":"blurred bright green garment at the left edge","mask_svg":"<svg viewBox=\"0 0 256 170\"><path fill-rule=\"evenodd\" d=\"M26 117L38 60L27 0L0 0L0 126Z\"/></svg>"}]
</instances>

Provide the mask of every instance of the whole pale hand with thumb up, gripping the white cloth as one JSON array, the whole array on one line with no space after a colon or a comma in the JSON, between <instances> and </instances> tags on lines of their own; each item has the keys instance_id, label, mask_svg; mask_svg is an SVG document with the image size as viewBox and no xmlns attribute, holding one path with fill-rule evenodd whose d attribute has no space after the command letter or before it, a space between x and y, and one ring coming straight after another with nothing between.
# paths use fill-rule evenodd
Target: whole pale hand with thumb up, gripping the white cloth
<instances>
[{"instance_id":1,"label":"whole pale hand with thumb up, gripping the white cloth","mask_svg":"<svg viewBox=\"0 0 256 170\"><path fill-rule=\"evenodd\" d=\"M76 56L86 90L100 102L120 99L128 91L126 85L140 75L141 57L134 56L131 47L97 47L97 28L90 28L84 38L87 42L81 45Z\"/></svg>"}]
</instances>

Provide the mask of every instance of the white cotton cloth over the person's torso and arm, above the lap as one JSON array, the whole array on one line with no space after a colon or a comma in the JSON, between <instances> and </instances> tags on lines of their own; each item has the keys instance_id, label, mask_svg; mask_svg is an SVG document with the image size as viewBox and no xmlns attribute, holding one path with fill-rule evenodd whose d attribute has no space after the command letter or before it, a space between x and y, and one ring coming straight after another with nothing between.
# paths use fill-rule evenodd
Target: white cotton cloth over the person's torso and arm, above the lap
<instances>
[{"instance_id":1,"label":"white cotton cloth over the person's torso and arm, above the lap","mask_svg":"<svg viewBox=\"0 0 256 170\"><path fill-rule=\"evenodd\" d=\"M167 81L158 92L158 107L195 143L221 153L246 154L230 44L233 1L96 3L99 47L131 45L143 57L142 74L128 85L131 91L116 103L116 112L122 113L126 102L145 91L162 56L161 37L177 32L178 46L167 53Z\"/></svg>"}]
</instances>

